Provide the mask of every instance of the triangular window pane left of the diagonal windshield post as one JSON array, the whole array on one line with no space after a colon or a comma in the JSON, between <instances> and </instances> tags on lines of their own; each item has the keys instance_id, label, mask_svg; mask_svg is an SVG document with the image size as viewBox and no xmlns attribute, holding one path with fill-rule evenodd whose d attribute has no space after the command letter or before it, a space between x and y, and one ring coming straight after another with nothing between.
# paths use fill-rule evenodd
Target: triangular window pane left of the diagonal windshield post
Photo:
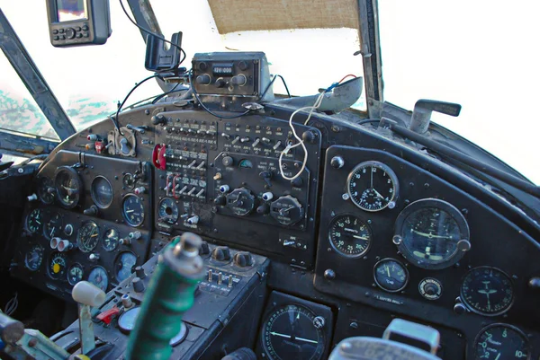
<instances>
[{"instance_id":1,"label":"triangular window pane left of the diagonal windshield post","mask_svg":"<svg viewBox=\"0 0 540 360\"><path fill-rule=\"evenodd\" d=\"M4 53L0 53L0 129L59 140Z\"/></svg>"}]
</instances>

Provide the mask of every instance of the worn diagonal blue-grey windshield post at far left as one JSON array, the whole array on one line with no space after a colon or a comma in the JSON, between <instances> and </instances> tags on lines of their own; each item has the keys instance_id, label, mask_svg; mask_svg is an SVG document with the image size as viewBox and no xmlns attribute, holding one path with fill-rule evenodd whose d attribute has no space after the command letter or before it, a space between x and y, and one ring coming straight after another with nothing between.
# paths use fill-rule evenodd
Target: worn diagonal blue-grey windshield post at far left
<instances>
[{"instance_id":1,"label":"worn diagonal blue-grey windshield post at far left","mask_svg":"<svg viewBox=\"0 0 540 360\"><path fill-rule=\"evenodd\" d=\"M0 9L0 48L60 139L64 140L75 134L75 127L67 118L66 111L40 74L2 9Z\"/></svg>"}]
</instances>

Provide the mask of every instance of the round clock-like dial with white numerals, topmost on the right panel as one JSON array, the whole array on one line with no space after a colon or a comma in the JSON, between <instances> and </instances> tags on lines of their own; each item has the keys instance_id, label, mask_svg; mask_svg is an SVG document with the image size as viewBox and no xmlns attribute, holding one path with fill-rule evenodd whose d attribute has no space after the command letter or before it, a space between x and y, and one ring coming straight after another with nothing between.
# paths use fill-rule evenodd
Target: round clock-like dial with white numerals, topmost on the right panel
<instances>
[{"instance_id":1,"label":"round clock-like dial with white numerals, topmost on the right panel","mask_svg":"<svg viewBox=\"0 0 540 360\"><path fill-rule=\"evenodd\" d=\"M347 192L353 203L365 211L393 208L398 197L398 177L383 162L362 162L347 178Z\"/></svg>"}]
</instances>

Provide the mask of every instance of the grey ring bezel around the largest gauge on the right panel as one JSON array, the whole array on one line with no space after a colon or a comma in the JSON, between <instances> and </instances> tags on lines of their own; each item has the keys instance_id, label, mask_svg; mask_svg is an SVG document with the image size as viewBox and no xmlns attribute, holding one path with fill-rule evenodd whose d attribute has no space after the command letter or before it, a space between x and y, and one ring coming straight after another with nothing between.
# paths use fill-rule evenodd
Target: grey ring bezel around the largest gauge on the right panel
<instances>
[{"instance_id":1,"label":"grey ring bezel around the largest gauge on the right panel","mask_svg":"<svg viewBox=\"0 0 540 360\"><path fill-rule=\"evenodd\" d=\"M453 266L456 262L458 262L460 259L462 259L466 253L466 251L455 249L455 252L450 255L448 258L441 260L440 262L426 262L422 261L421 259L418 259L416 256L412 254L412 252L409 250L407 245L405 244L405 241L403 241L403 224L405 220L412 215L414 212L419 211L422 208L427 207L434 207L439 210L445 211L448 215L451 215L452 218L455 221L455 224L457 224L457 227L459 228L460 233L460 239L456 241L471 241L471 236L469 232L469 224L467 224L467 220L465 220L464 215L455 207L454 205L450 204L449 202L445 200L441 200L439 198L422 198L419 199L410 205L406 206L403 210L401 210L400 215L398 215L398 218L396 219L396 223L394 225L394 243L398 247L398 250L401 252L403 257L407 259L412 265L419 267L419 268L425 268L428 270L440 270L443 268L449 268ZM401 239L399 243L396 243L396 239Z\"/></svg>"}]
</instances>

